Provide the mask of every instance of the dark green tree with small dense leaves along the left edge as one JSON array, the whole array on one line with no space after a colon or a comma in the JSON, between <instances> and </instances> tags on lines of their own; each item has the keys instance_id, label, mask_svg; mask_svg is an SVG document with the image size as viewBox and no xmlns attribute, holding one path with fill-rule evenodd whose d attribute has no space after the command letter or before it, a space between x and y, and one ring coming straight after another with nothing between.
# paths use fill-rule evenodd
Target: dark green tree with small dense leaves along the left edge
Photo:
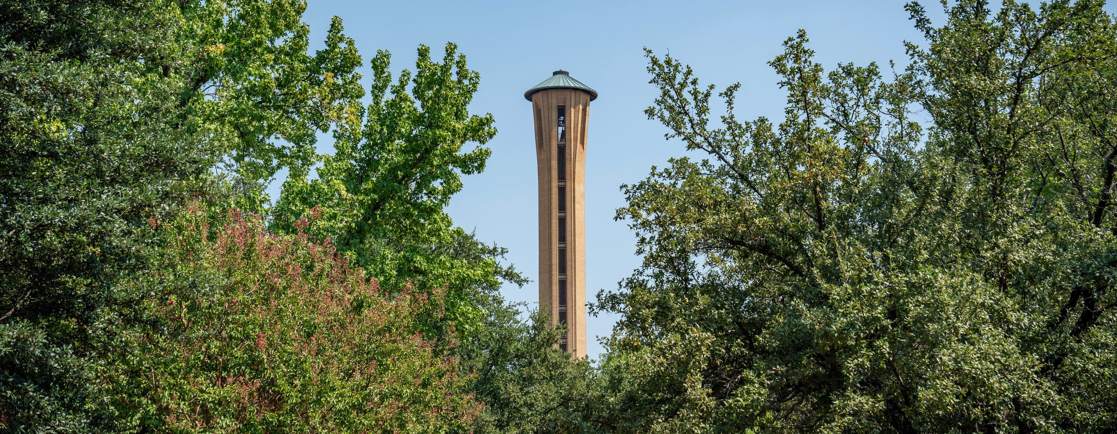
<instances>
[{"instance_id":1,"label":"dark green tree with small dense leaves along the left edge","mask_svg":"<svg viewBox=\"0 0 1117 434\"><path fill-rule=\"evenodd\" d=\"M0 46L0 422L26 432L101 425L87 357L112 284L135 270L213 151L179 122L137 59L169 31L118 2L3 2Z\"/></svg>"}]
</instances>

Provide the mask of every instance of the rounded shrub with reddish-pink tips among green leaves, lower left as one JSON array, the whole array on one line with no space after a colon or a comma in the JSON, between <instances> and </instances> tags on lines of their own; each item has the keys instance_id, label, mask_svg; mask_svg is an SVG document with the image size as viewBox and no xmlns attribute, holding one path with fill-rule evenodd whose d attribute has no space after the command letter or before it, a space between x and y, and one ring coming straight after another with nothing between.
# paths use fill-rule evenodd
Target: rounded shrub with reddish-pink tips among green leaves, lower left
<instances>
[{"instance_id":1,"label":"rounded shrub with reddish-pink tips among green leaves, lower left","mask_svg":"<svg viewBox=\"0 0 1117 434\"><path fill-rule=\"evenodd\" d=\"M305 224L302 223L302 224ZM391 296L328 241L275 237L232 211L175 223L159 272L132 281L150 327L122 389L156 432L468 431L480 404L416 334L438 290ZM144 430L144 431L149 431Z\"/></svg>"}]
</instances>

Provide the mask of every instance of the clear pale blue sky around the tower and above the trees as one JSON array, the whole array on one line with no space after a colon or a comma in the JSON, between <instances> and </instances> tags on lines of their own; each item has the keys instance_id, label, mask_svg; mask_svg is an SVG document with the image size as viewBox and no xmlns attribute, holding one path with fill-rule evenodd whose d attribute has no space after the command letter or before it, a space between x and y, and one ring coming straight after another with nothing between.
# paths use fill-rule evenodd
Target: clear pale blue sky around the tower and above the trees
<instances>
[{"instance_id":1,"label":"clear pale blue sky around the tower and above the trees","mask_svg":"<svg viewBox=\"0 0 1117 434\"><path fill-rule=\"evenodd\" d=\"M393 69L413 69L419 44L441 57L442 46L452 41L480 73L470 110L491 113L498 133L486 145L493 156L485 173L465 177L449 213L459 226L476 230L478 239L510 250L508 262L533 283L506 286L503 293L533 306L538 301L537 192L531 103L523 94L552 71L569 70L600 94L590 106L585 164L586 296L592 302L598 290L615 289L640 264L633 233L613 220L624 204L619 186L686 154L642 113L657 95L648 84L643 47L670 51L718 88L739 81L738 117L780 119L785 95L766 62L798 29L806 30L828 69L837 62L877 61L887 70L889 60L906 61L904 40L923 45L904 1L308 2L304 20L312 29L312 49L322 47L331 17L338 16L365 59L386 49ZM938 1L924 4L939 25ZM321 152L332 151L330 142L328 134L321 136ZM591 358L603 351L596 337L608 336L614 321L589 318Z\"/></svg>"}]
</instances>

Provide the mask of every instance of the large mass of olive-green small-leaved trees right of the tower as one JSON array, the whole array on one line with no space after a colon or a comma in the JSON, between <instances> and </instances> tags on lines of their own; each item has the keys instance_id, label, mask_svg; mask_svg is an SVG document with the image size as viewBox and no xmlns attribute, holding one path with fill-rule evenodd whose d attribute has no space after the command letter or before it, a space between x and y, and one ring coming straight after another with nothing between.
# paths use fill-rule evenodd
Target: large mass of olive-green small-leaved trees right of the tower
<instances>
[{"instance_id":1,"label":"large mass of olive-green small-leaved trees right of the tower","mask_svg":"<svg viewBox=\"0 0 1117 434\"><path fill-rule=\"evenodd\" d=\"M624 187L643 267L608 432L1117 428L1117 29L1100 1L961 1L906 69L772 67L782 122L715 123L714 87L648 54L648 116L708 160ZM920 125L914 112L927 115Z\"/></svg>"}]
</instances>

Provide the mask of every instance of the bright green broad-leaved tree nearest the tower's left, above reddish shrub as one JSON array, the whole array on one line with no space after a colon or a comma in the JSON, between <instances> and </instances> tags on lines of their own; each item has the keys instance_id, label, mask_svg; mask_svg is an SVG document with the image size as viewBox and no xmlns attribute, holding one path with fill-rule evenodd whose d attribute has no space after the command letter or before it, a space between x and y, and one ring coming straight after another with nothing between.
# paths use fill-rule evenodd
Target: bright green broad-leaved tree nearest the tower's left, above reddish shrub
<instances>
[{"instance_id":1,"label":"bright green broad-leaved tree nearest the tower's left, above reddish shrub","mask_svg":"<svg viewBox=\"0 0 1117 434\"><path fill-rule=\"evenodd\" d=\"M306 212L322 210L309 233L332 237L385 288L449 286L448 320L469 329L483 315L471 302L480 292L495 291L502 278L525 281L499 264L499 249L455 228L445 211L460 176L485 168L491 152L480 145L496 134L493 116L469 114L479 75L452 44L441 62L420 46L414 73L395 79L390 59L380 51L370 62L372 102L355 114L363 125L334 133L335 153L322 156L316 179L299 171L284 183L273 228L290 232ZM468 142L478 145L462 153Z\"/></svg>"}]
</instances>

